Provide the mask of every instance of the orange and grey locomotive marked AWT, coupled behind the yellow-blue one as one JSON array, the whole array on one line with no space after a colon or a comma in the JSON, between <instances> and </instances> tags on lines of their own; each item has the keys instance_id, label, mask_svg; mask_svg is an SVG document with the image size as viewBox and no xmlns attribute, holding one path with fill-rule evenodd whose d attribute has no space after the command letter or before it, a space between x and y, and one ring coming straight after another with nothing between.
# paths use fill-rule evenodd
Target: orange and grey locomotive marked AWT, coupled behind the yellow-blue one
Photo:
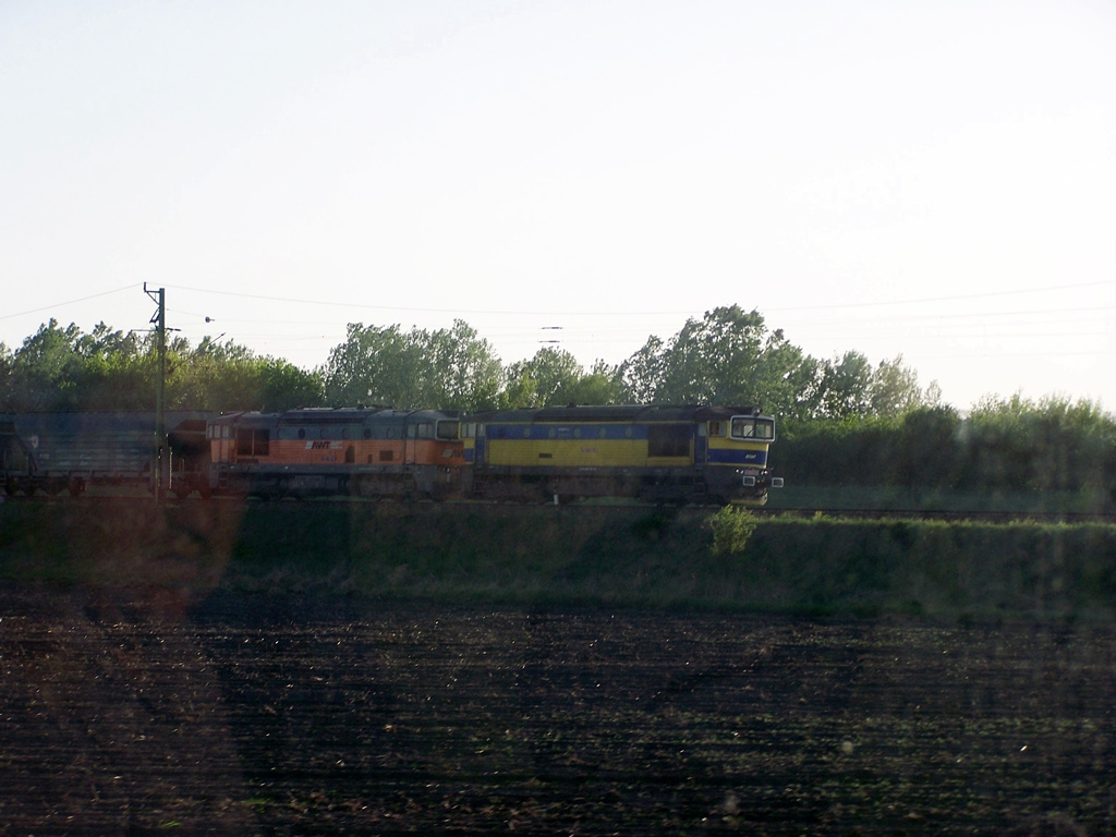
<instances>
[{"instance_id":1,"label":"orange and grey locomotive marked AWT, coupled behind the yellow-blue one","mask_svg":"<svg viewBox=\"0 0 1116 837\"><path fill-rule=\"evenodd\" d=\"M264 498L441 499L461 491L459 420L435 410L346 407L213 419L210 488Z\"/></svg>"}]
</instances>

